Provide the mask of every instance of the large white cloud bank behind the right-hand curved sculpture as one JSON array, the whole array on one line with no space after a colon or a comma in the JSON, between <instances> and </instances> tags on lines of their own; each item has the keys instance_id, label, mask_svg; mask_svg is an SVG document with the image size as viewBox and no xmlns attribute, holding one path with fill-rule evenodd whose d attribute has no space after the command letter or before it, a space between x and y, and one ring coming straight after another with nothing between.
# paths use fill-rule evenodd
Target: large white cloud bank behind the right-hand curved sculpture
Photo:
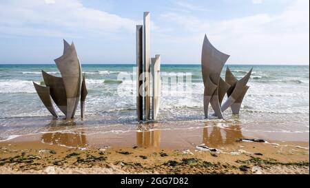
<instances>
[{"instance_id":1,"label":"large white cloud bank behind the right-hand curved sculpture","mask_svg":"<svg viewBox=\"0 0 310 188\"><path fill-rule=\"evenodd\" d=\"M174 12L161 16L165 21L178 23L179 30L189 34L184 44L187 48L184 52L179 49L178 55L185 62L190 60L183 54L192 54L191 58L196 56L196 62L200 61L200 45L194 43L202 43L206 33L219 50L231 54L230 63L309 63L307 0L292 1L280 14L254 14L217 22ZM184 37L179 38L184 41Z\"/></svg>"}]
</instances>

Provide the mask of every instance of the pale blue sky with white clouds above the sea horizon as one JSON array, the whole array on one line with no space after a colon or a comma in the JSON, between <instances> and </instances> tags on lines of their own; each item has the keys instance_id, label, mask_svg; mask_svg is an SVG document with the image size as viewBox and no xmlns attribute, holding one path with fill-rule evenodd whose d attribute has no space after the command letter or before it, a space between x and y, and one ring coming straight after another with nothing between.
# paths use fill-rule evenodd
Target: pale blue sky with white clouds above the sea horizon
<instances>
[{"instance_id":1,"label":"pale blue sky with white clouds above the sea horizon","mask_svg":"<svg viewBox=\"0 0 310 188\"><path fill-rule=\"evenodd\" d=\"M207 34L227 64L309 65L309 0L0 0L0 63L54 63L63 39L81 63L135 63L145 11L163 63L200 63Z\"/></svg>"}]
</instances>

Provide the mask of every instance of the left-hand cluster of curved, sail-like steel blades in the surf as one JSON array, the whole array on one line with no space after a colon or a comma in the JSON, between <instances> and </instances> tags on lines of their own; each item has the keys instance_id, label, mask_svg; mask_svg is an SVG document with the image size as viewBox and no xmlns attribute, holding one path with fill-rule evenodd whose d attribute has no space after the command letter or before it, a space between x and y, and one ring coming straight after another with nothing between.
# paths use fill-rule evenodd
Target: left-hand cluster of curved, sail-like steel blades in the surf
<instances>
[{"instance_id":1,"label":"left-hand cluster of curved, sail-like steel blades in the surf","mask_svg":"<svg viewBox=\"0 0 310 188\"><path fill-rule=\"evenodd\" d=\"M63 43L63 55L54 60L61 73L61 77L52 76L42 70L46 86L34 83L34 87L45 107L48 108L55 118L59 116L52 105L51 97L67 119L74 118L76 107L81 97L81 117L83 118L87 95L85 74L82 83L81 64L76 54L74 43L72 42L70 45L65 40L63 40Z\"/></svg>"}]
</instances>

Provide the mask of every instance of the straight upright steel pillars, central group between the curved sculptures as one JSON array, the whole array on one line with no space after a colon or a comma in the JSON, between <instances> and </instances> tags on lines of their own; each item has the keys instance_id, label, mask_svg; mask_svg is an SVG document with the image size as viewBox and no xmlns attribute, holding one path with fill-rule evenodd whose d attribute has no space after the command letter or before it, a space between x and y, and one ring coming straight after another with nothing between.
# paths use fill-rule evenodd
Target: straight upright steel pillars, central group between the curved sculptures
<instances>
[{"instance_id":1,"label":"straight upright steel pillars, central group between the curved sculptures","mask_svg":"<svg viewBox=\"0 0 310 188\"><path fill-rule=\"evenodd\" d=\"M144 120L149 121L156 120L159 110L161 56L156 55L155 58L152 58L151 66L151 59L149 58L150 13L144 12L143 18L143 25L136 25L136 116L138 121L143 121L144 112Z\"/></svg>"}]
</instances>

